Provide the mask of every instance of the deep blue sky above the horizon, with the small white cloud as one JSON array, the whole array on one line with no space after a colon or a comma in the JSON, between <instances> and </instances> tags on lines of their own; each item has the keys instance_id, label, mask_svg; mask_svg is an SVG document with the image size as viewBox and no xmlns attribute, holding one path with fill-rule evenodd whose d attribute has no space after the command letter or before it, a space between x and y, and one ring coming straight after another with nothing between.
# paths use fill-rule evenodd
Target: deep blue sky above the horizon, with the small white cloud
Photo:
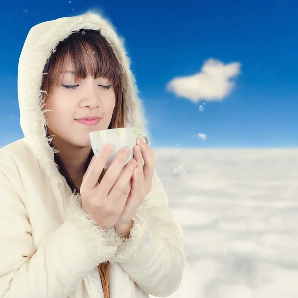
<instances>
[{"instance_id":1,"label":"deep blue sky above the horizon, with the small white cloud","mask_svg":"<svg viewBox=\"0 0 298 298\"><path fill-rule=\"evenodd\" d=\"M152 147L298 147L298 1L98 3L0 0L0 146L23 137L17 67L28 31L91 9L125 39Z\"/></svg>"}]
</instances>

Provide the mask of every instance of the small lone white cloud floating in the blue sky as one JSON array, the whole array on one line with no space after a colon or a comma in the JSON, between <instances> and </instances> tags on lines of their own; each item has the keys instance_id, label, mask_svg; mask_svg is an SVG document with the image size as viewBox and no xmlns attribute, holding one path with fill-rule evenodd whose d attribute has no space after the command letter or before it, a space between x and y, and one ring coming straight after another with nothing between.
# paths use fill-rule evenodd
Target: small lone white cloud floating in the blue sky
<instances>
[{"instance_id":1,"label":"small lone white cloud floating in the blue sky","mask_svg":"<svg viewBox=\"0 0 298 298\"><path fill-rule=\"evenodd\" d=\"M194 103L200 100L221 101L232 91L235 84L232 79L239 73L240 63L224 64L211 58L205 61L201 72L172 79L167 90Z\"/></svg>"}]
</instances>

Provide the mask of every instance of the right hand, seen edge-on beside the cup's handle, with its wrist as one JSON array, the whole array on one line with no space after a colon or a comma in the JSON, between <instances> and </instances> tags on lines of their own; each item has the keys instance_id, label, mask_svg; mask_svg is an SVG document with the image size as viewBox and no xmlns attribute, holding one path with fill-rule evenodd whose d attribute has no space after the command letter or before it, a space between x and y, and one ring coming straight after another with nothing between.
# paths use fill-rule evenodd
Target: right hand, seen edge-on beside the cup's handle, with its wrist
<instances>
[{"instance_id":1,"label":"right hand, seen edge-on beside the cup's handle, with its wrist","mask_svg":"<svg viewBox=\"0 0 298 298\"><path fill-rule=\"evenodd\" d=\"M114 226L116 231L121 231L121 234L123 234L123 227L131 227L131 221L138 206L151 191L154 167L157 162L152 149L141 138L137 138L136 143L137 145L134 146L133 151L134 158L137 160L137 167L133 170L131 190L124 209ZM130 183L128 187L130 187Z\"/></svg>"}]
</instances>

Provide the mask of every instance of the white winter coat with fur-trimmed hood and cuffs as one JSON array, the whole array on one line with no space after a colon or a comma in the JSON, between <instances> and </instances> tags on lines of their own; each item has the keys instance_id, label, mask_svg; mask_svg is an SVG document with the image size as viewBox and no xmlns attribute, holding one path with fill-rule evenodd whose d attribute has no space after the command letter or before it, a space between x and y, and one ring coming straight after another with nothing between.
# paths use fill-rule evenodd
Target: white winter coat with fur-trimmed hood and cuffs
<instances>
[{"instance_id":1,"label":"white winter coat with fur-trimmed hood and cuffs","mask_svg":"<svg viewBox=\"0 0 298 298\"><path fill-rule=\"evenodd\" d=\"M43 67L72 31L100 30L123 71L125 127L144 131L123 40L100 15L85 13L34 26L18 68L24 138L0 149L0 298L103 298L98 264L109 260L111 298L166 297L182 280L182 229L154 170L153 186L134 217L130 237L99 230L54 163L40 104Z\"/></svg>"}]
</instances>

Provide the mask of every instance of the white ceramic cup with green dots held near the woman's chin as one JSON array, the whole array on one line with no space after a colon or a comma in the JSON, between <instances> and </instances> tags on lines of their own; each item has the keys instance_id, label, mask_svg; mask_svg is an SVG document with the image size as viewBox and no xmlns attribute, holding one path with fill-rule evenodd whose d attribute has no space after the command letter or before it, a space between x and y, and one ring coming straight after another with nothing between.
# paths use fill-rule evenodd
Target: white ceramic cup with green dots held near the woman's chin
<instances>
[{"instance_id":1,"label":"white ceramic cup with green dots held near the woman's chin","mask_svg":"<svg viewBox=\"0 0 298 298\"><path fill-rule=\"evenodd\" d=\"M110 154L104 169L107 169L111 165L121 148L128 146L130 148L130 154L123 165L126 166L127 163L134 158L133 148L136 145L138 137L144 138L146 144L150 146L149 137L145 134L139 134L139 129L137 127L121 127L94 131L89 133L89 136L91 147L96 157L106 144L113 145L112 153Z\"/></svg>"}]
</instances>

